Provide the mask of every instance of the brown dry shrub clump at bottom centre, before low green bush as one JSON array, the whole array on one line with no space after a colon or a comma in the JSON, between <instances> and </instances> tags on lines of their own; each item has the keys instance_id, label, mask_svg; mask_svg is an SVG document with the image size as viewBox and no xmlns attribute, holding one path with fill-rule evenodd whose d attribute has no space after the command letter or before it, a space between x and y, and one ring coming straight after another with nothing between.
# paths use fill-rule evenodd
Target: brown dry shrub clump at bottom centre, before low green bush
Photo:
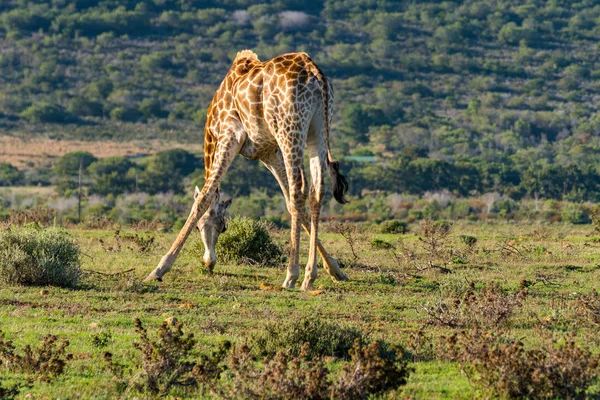
<instances>
[{"instance_id":1,"label":"brown dry shrub clump at bottom centre, before low green bush","mask_svg":"<svg viewBox=\"0 0 600 400\"><path fill-rule=\"evenodd\" d=\"M303 344L298 356L278 352L259 369L251 349L234 349L228 359L229 383L221 388L222 398L243 399L366 399L406 384L412 371L402 359L402 349L386 348L382 342L368 346L359 340L350 350L351 361L344 364L337 382L322 359L309 356L310 345Z\"/></svg>"}]
</instances>

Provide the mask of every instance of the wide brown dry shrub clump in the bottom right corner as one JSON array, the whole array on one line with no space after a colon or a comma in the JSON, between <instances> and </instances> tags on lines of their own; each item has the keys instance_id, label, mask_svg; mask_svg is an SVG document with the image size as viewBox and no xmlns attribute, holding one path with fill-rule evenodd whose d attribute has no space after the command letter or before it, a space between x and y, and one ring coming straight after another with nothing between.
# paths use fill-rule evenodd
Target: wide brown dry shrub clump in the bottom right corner
<instances>
[{"instance_id":1,"label":"wide brown dry shrub clump in the bottom right corner","mask_svg":"<svg viewBox=\"0 0 600 400\"><path fill-rule=\"evenodd\" d=\"M444 351L471 383L508 398L585 398L600 358L571 337L562 344L546 339L542 348L526 350L520 340L480 329L446 338Z\"/></svg>"}]
</instances>

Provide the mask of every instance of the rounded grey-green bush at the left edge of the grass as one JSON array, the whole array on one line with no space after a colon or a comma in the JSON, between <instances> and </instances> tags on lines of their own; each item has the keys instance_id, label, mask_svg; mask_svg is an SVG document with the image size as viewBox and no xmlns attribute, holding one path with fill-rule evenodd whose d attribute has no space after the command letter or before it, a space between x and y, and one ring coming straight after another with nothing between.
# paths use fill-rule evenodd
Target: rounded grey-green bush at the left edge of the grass
<instances>
[{"instance_id":1,"label":"rounded grey-green bush at the left edge of the grass","mask_svg":"<svg viewBox=\"0 0 600 400\"><path fill-rule=\"evenodd\" d=\"M63 229L37 225L0 231L0 283L75 286L79 247Z\"/></svg>"}]
</instances>

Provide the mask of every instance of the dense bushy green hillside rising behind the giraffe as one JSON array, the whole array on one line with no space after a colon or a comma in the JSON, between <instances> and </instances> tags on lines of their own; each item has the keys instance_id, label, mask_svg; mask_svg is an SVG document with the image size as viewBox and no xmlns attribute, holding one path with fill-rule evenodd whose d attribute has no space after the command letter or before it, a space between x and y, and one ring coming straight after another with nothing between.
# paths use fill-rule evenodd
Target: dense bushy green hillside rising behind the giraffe
<instances>
[{"instance_id":1,"label":"dense bushy green hillside rising behind the giraffe","mask_svg":"<svg viewBox=\"0 0 600 400\"><path fill-rule=\"evenodd\" d=\"M332 146L354 157L353 195L598 202L599 17L593 1L3 0L0 127L198 142L238 50L262 59L304 50L334 80ZM119 163L102 161L91 176ZM158 176L145 184L165 179L150 167ZM246 177L264 182L262 173ZM135 187L129 178L117 191ZM0 164L0 184L18 180Z\"/></svg>"}]
</instances>

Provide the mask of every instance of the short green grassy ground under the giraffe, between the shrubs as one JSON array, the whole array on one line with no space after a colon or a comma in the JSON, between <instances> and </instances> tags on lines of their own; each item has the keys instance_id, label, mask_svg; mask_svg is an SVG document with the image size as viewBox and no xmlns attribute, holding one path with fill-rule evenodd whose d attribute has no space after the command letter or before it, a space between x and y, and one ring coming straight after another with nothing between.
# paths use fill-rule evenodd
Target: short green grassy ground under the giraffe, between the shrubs
<instances>
[{"instance_id":1,"label":"short green grassy ground under the giraffe, between the shrubs","mask_svg":"<svg viewBox=\"0 0 600 400\"><path fill-rule=\"evenodd\" d=\"M175 317L198 340L192 354L207 352L223 339L243 344L268 323L308 318L353 327L407 350L414 372L405 386L387 394L390 398L485 396L488 392L472 385L443 350L443 337L475 324L520 339L526 348L575 334L578 345L600 353L597 321L581 302L599 286L600 241L591 225L458 222L449 236L434 238L436 243L419 229L415 224L406 234L380 234L326 226L321 239L342 260L350 280L332 282L321 269L311 292L280 290L283 265L219 264L213 275L207 274L191 251L198 245L197 234L162 283L142 284L176 233L123 229L116 238L113 228L69 229L83 253L86 274L79 287L0 288L0 327L17 348L36 347L51 333L67 339L73 355L64 374L51 382L34 380L17 398L134 397L119 391L102 354L109 351L125 365L139 363L132 346L139 341L135 318L155 335L165 319ZM127 239L135 233L155 242ZM289 232L272 235L287 250ZM307 240L302 240L306 260ZM386 249L386 243L395 249ZM505 316L482 302L461 300L492 283L508 300L494 303L491 296L488 301L506 307ZM327 362L335 369L338 361ZM18 374L3 370L0 377L10 382ZM587 394L600 395L598 382Z\"/></svg>"}]
</instances>

